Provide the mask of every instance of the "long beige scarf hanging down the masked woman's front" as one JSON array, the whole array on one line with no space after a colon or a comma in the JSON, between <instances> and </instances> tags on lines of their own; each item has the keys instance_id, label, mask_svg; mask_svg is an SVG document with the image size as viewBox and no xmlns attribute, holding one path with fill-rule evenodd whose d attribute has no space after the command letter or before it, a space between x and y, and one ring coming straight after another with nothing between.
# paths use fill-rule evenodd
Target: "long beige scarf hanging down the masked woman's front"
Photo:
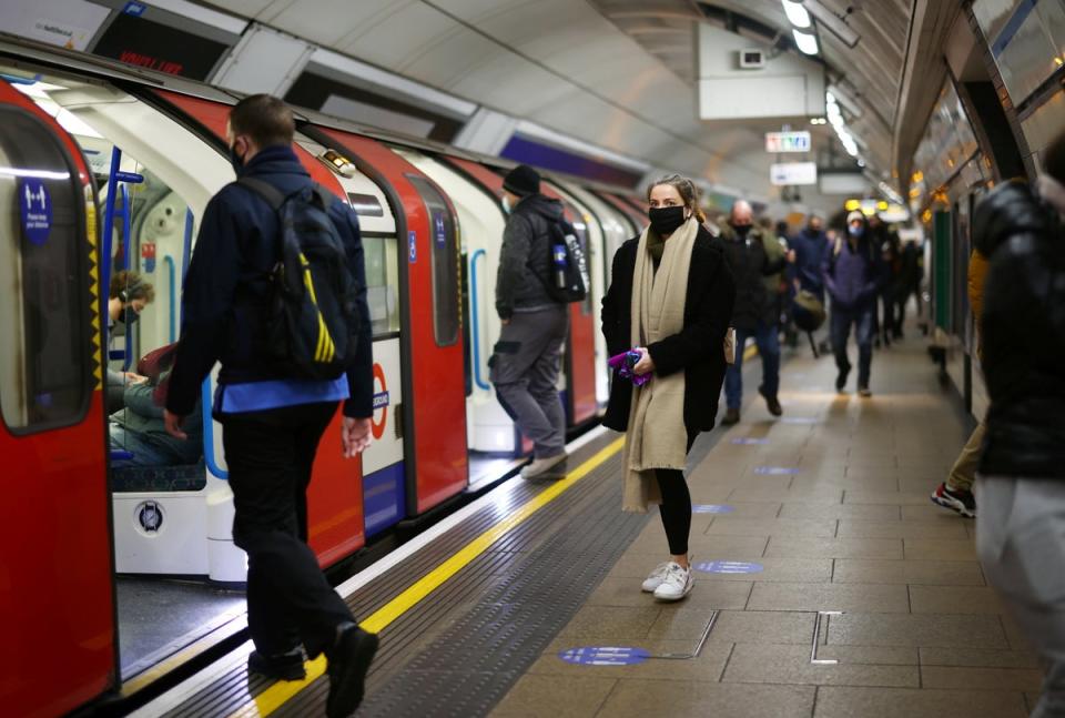
<instances>
[{"instance_id":1,"label":"long beige scarf hanging down the masked woman's front","mask_svg":"<svg viewBox=\"0 0 1065 718\"><path fill-rule=\"evenodd\" d=\"M630 336L639 346L679 334L684 327L688 270L699 222L690 219L670 235L657 273L647 249L649 231L650 227L640 235L632 273ZM660 504L655 469L683 469L687 455L684 373L656 375L643 386L633 387L622 454L626 469L622 508L645 513L651 504Z\"/></svg>"}]
</instances>

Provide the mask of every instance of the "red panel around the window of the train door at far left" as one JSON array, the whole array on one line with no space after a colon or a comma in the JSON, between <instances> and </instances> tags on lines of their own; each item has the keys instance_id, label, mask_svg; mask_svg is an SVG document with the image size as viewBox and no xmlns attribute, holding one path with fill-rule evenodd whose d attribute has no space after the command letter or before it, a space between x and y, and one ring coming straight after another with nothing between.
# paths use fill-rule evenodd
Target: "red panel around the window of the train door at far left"
<instances>
[{"instance_id":1,"label":"red panel around the window of the train door at far left","mask_svg":"<svg viewBox=\"0 0 1065 718\"><path fill-rule=\"evenodd\" d=\"M81 150L51 117L3 81L0 108L37 118L73 163L75 206L93 206L92 213L81 210L75 232L79 241L91 240L83 249L90 273L97 232L88 223L95 222L95 198ZM82 277L87 287L92 275ZM98 301L83 299L87 304ZM91 331L99 363L99 317ZM0 651L0 705L12 716L63 714L115 682L106 439L101 385L98 377L93 382L88 411L75 424L28 434L12 433L6 422L0 427L4 473L19 479L4 483L0 502L0 542L8 548L0 565L0 614L8 630L7 648Z\"/></svg>"}]
</instances>

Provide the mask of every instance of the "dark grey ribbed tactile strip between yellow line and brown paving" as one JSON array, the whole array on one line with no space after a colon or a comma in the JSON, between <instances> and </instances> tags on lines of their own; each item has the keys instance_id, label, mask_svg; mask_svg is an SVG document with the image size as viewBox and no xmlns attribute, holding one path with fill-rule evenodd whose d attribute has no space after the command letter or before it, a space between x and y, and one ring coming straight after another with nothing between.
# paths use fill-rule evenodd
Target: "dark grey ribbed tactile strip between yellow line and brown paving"
<instances>
[{"instance_id":1,"label":"dark grey ribbed tactile strip between yellow line and brown paving","mask_svg":"<svg viewBox=\"0 0 1065 718\"><path fill-rule=\"evenodd\" d=\"M559 512L545 509L540 512L545 520L530 520L545 524L550 519L547 514L562 514L554 517L562 520L546 542L506 574L497 575L494 587L384 685L372 687L358 715L467 717L490 712L646 525L647 515L621 512L618 467L619 459L611 458L588 477L592 481L580 492L582 496L567 496L569 500ZM532 534L542 538L546 528L523 525L508 538L514 544ZM491 553L475 565L490 560ZM449 583L464 579L468 578L458 575ZM426 603L432 609L437 601ZM322 685L303 691L277 715L305 716L320 709L327 687L325 681L317 682Z\"/></svg>"}]
</instances>

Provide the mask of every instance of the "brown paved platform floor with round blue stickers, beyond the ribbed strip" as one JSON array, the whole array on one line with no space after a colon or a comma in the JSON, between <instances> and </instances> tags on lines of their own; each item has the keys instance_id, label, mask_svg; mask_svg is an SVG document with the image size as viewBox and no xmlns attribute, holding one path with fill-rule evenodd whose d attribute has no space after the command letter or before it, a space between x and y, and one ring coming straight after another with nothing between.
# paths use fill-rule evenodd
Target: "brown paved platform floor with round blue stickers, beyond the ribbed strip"
<instances>
[{"instance_id":1,"label":"brown paved platform floor with round blue stickers, beyond the ribbed strip","mask_svg":"<svg viewBox=\"0 0 1065 718\"><path fill-rule=\"evenodd\" d=\"M974 523L929 500L971 428L956 394L916 340L875 353L872 398L853 384L838 395L834 378L832 358L809 350L787 362L783 418L749 403L689 477L696 504L732 508L694 515L696 564L762 570L699 572L684 601L656 603L639 590L667 553L649 522L491 715L1027 716L1036 658L984 579ZM588 646L690 651L714 609L696 659L559 657ZM839 611L822 615L816 637L816 659L834 665L811 663L819 611Z\"/></svg>"}]
</instances>

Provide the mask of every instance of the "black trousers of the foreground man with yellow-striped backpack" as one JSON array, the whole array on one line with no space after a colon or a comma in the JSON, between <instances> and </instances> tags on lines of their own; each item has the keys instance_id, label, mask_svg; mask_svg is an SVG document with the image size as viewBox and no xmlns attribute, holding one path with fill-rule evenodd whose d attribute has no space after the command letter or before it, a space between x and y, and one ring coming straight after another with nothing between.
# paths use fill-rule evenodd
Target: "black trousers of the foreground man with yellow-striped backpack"
<instances>
[{"instance_id":1,"label":"black trousers of the foreground man with yellow-striped backpack","mask_svg":"<svg viewBox=\"0 0 1065 718\"><path fill-rule=\"evenodd\" d=\"M311 467L336 407L304 404L222 419L233 540L247 552L247 627L262 654L302 643L313 658L333 645L339 624L354 621L306 544Z\"/></svg>"}]
</instances>

